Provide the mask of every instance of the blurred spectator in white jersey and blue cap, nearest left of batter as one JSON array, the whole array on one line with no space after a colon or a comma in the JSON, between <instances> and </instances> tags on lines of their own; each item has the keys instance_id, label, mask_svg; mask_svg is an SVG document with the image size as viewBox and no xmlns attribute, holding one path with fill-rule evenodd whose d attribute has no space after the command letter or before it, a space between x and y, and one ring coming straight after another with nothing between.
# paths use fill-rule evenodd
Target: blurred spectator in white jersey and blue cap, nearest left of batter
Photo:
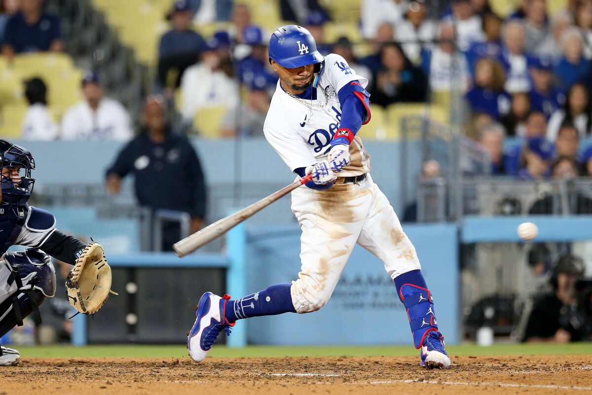
<instances>
[{"instance_id":1,"label":"blurred spectator in white jersey and blue cap, nearest left of batter","mask_svg":"<svg viewBox=\"0 0 592 395\"><path fill-rule=\"evenodd\" d=\"M191 123L198 110L218 106L234 109L239 104L239 85L224 69L224 43L208 40L201 62L185 70L181 79L181 114Z\"/></svg>"}]
</instances>

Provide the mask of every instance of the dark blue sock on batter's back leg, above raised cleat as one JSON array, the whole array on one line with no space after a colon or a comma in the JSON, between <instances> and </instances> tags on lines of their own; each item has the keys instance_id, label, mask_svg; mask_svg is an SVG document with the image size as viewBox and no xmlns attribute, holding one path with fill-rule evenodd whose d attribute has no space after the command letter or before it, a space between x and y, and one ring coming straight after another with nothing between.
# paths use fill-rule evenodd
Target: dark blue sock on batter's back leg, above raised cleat
<instances>
[{"instance_id":1,"label":"dark blue sock on batter's back leg, above raised cleat","mask_svg":"<svg viewBox=\"0 0 592 395\"><path fill-rule=\"evenodd\" d=\"M295 313L292 304L290 288L292 284L275 284L265 288L263 291L247 295L240 299L229 300L224 316L229 322L236 320L259 317L274 316L282 313Z\"/></svg>"}]
</instances>

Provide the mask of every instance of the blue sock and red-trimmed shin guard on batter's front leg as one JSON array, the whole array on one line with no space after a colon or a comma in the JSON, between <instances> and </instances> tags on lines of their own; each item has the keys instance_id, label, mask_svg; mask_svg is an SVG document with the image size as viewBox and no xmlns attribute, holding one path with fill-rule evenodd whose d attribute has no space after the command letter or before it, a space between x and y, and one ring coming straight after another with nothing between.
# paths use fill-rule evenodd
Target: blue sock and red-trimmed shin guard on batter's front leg
<instances>
[{"instance_id":1,"label":"blue sock and red-trimmed shin guard on batter's front leg","mask_svg":"<svg viewBox=\"0 0 592 395\"><path fill-rule=\"evenodd\" d=\"M437 330L432 293L427 290L421 270L412 270L395 278L399 299L405 304L413 343L420 348L430 330Z\"/></svg>"}]
</instances>

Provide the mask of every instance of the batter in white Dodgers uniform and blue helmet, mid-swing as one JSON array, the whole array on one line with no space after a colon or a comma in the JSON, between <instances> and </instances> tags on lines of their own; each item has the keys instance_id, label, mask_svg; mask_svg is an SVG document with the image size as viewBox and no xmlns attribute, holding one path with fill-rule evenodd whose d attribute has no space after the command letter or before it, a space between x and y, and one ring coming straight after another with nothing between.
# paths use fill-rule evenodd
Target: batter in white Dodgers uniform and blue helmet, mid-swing
<instances>
[{"instance_id":1,"label":"batter in white Dodgers uniform and blue helmet, mid-swing","mask_svg":"<svg viewBox=\"0 0 592 395\"><path fill-rule=\"evenodd\" d=\"M232 300L207 292L187 346L202 361L221 330L236 320L281 313L310 313L323 307L356 243L374 253L407 309L421 365L448 368L432 294L415 248L387 198L372 182L370 156L356 133L370 121L368 80L343 57L317 52L300 26L279 28L269 40L269 61L279 75L263 131L298 178L313 175L292 192L292 211L302 229L301 271L291 284Z\"/></svg>"}]
</instances>

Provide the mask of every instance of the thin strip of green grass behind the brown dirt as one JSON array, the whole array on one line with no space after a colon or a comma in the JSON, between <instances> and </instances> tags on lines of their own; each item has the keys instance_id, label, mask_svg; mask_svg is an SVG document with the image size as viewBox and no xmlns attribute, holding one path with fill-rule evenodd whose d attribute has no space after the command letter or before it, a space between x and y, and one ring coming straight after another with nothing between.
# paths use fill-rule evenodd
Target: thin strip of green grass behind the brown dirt
<instances>
[{"instance_id":1,"label":"thin strip of green grass behind the brown dirt","mask_svg":"<svg viewBox=\"0 0 592 395\"><path fill-rule=\"evenodd\" d=\"M187 357L185 345L91 345L74 347L18 346L25 358L181 358ZM446 347L450 355L567 355L592 354L592 343L571 344L499 344L480 347L466 344ZM406 357L417 355L411 346L214 346L210 357Z\"/></svg>"}]
</instances>

